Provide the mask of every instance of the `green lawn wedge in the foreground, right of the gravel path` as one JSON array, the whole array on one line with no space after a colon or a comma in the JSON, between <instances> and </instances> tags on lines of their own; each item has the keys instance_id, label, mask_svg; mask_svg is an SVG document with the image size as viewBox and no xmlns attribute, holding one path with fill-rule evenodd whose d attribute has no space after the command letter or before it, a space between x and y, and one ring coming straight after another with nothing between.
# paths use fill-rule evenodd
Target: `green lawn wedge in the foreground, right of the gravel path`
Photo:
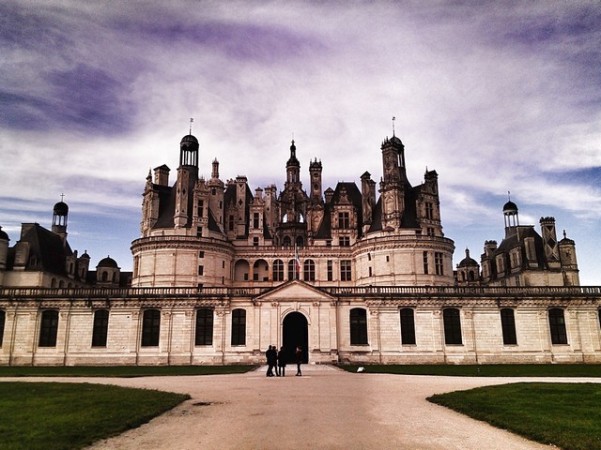
<instances>
[{"instance_id":1,"label":"green lawn wedge in the foreground, right of the gravel path","mask_svg":"<svg viewBox=\"0 0 601 450\"><path fill-rule=\"evenodd\" d=\"M564 450L601 448L601 384L515 383L428 400Z\"/></svg>"}]
</instances>

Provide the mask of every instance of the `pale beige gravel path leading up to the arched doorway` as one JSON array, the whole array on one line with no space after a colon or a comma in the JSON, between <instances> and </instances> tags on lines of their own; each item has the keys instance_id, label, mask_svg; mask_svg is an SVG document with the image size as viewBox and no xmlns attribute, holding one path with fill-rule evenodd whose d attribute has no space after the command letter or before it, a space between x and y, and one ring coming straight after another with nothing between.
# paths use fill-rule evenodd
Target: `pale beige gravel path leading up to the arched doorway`
<instances>
[{"instance_id":1,"label":"pale beige gravel path leading up to the arched doorway","mask_svg":"<svg viewBox=\"0 0 601 450\"><path fill-rule=\"evenodd\" d=\"M294 368L288 369L285 378L266 378L261 368L236 375L19 380L109 383L192 396L94 449L551 448L426 401L435 393L524 379L352 374L312 365L303 366L303 376L296 377Z\"/></svg>"}]
</instances>

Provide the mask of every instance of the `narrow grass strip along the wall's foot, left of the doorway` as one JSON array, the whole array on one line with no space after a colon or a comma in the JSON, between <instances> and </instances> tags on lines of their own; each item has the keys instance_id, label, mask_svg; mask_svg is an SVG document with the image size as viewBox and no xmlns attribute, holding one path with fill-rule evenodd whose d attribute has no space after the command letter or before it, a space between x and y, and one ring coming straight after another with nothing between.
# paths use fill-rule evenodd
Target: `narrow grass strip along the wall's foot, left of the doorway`
<instances>
[{"instance_id":1,"label":"narrow grass strip along the wall's foot, left of the doorway","mask_svg":"<svg viewBox=\"0 0 601 450\"><path fill-rule=\"evenodd\" d=\"M0 377L154 377L245 373L256 366L1 366Z\"/></svg>"}]
</instances>

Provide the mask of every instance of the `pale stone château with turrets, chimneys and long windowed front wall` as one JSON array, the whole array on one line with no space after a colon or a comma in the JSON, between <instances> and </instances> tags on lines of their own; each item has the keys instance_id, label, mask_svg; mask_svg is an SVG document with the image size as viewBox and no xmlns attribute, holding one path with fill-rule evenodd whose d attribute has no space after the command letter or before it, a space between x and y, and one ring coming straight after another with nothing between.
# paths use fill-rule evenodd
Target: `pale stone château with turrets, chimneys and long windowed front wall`
<instances>
[{"instance_id":1,"label":"pale stone ch\u00e2teau with turrets, chimneys and long windowed front wall","mask_svg":"<svg viewBox=\"0 0 601 450\"><path fill-rule=\"evenodd\" d=\"M398 137L377 192L367 172L323 190L317 160L305 190L294 142L279 192L224 182L216 159L199 177L199 150L185 136L173 184L165 165L147 177L130 287L110 258L86 286L4 283L0 364L256 364L269 345L310 363L601 362L601 290L578 286L574 243L506 205L489 269L466 252L454 273L438 176L412 186Z\"/></svg>"}]
</instances>

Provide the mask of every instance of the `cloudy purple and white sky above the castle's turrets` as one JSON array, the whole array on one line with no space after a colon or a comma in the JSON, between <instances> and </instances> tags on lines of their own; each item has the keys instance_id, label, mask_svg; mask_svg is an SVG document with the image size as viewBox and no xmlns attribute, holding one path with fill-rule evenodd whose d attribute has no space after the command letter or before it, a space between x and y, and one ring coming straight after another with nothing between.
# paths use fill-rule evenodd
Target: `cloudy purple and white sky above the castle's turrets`
<instances>
[{"instance_id":1,"label":"cloudy purple and white sky above the castle's turrets","mask_svg":"<svg viewBox=\"0 0 601 450\"><path fill-rule=\"evenodd\" d=\"M174 181L179 142L200 174L254 191L285 181L292 138L308 186L382 175L405 144L409 180L439 175L454 265L522 225L556 219L583 285L601 285L598 1L3 1L0 226L50 228L131 270L149 169ZM394 122L392 117L395 117Z\"/></svg>"}]
</instances>

